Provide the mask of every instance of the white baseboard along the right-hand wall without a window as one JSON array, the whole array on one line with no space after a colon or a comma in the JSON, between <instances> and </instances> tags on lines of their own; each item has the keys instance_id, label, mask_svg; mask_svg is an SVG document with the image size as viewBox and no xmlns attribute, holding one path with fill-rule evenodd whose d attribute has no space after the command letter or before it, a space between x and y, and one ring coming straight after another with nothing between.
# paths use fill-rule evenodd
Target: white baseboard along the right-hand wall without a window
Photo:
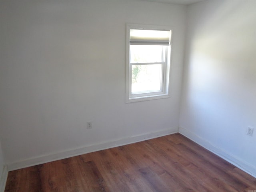
<instances>
[{"instance_id":1,"label":"white baseboard along the right-hand wall without a window","mask_svg":"<svg viewBox=\"0 0 256 192\"><path fill-rule=\"evenodd\" d=\"M210 142L204 140L203 138L190 132L189 130L186 130L186 129L180 127L179 133L256 178L256 168L254 166L247 164L243 160L241 160L237 157L234 157L232 154L229 154L225 150L222 150L222 149L214 146Z\"/></svg>"}]
</instances>

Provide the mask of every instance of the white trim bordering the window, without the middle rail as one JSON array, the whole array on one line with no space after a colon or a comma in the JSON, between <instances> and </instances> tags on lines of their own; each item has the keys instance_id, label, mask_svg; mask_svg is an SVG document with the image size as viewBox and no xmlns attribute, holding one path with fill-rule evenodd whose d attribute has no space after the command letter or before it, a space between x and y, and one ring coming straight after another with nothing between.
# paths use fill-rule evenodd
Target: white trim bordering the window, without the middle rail
<instances>
[{"instance_id":1,"label":"white trim bordering the window, without the middle rail","mask_svg":"<svg viewBox=\"0 0 256 192\"><path fill-rule=\"evenodd\" d=\"M155 26L155 25L144 25L144 24L126 24L126 103L146 101L153 99L170 98L170 69L171 69L171 47L167 51L167 57L164 64L164 76L162 77L163 90L161 92L151 92L150 94L138 94L138 96L132 96L131 94L131 66L130 64L130 28L144 28L154 30L171 30L173 39L173 28L170 26Z\"/></svg>"}]
</instances>

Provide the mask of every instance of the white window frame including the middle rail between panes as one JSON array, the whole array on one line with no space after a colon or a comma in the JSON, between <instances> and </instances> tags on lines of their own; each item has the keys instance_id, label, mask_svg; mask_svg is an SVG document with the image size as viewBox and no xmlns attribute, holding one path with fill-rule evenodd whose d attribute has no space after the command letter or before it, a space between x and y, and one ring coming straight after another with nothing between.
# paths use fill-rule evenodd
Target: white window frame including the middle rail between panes
<instances>
[{"instance_id":1,"label":"white window frame including the middle rail between panes","mask_svg":"<svg viewBox=\"0 0 256 192\"><path fill-rule=\"evenodd\" d=\"M145 30L170 30L170 44L165 50L164 62L150 63L132 63L130 62L130 29ZM170 98L170 63L171 63L171 44L172 44L173 28L170 26L155 26L144 24L126 24L126 103L138 102L145 100ZM141 64L162 64L162 85L161 90L156 92L132 94L132 65Z\"/></svg>"}]
</instances>

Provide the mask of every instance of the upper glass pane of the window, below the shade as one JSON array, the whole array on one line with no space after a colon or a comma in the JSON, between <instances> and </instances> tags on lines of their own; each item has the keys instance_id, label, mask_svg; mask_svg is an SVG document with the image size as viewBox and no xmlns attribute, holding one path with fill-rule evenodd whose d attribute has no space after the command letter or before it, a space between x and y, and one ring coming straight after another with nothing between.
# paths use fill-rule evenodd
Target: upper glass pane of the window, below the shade
<instances>
[{"instance_id":1,"label":"upper glass pane of the window, below the shade","mask_svg":"<svg viewBox=\"0 0 256 192\"><path fill-rule=\"evenodd\" d=\"M162 45L130 45L131 63L164 62Z\"/></svg>"}]
</instances>

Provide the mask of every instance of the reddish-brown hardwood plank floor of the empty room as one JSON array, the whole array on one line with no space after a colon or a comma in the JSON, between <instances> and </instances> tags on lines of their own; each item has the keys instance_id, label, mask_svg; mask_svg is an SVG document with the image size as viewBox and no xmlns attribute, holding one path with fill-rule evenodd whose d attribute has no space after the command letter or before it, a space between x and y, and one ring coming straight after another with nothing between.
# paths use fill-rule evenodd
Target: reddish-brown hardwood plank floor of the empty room
<instances>
[{"instance_id":1,"label":"reddish-brown hardwood plank floor of the empty room","mask_svg":"<svg viewBox=\"0 0 256 192\"><path fill-rule=\"evenodd\" d=\"M181 134L9 172L5 192L253 192L256 178Z\"/></svg>"}]
</instances>

